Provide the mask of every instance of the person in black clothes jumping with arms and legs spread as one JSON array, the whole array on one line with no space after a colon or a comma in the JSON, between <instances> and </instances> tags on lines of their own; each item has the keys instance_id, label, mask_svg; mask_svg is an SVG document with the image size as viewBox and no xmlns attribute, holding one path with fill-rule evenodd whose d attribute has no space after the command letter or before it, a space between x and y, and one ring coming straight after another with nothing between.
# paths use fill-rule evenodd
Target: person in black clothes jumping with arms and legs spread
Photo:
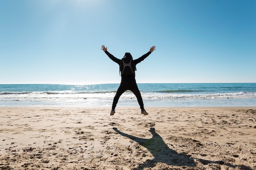
<instances>
[{"instance_id":1,"label":"person in black clothes jumping with arms and legs spread","mask_svg":"<svg viewBox=\"0 0 256 170\"><path fill-rule=\"evenodd\" d=\"M114 57L114 55L110 54L108 52L108 49L107 47L105 48L104 45L101 46L101 49L108 55L108 57L110 57L111 60L113 60L114 62L116 62L118 65L119 65L119 68L120 68L120 65L121 65L121 60ZM114 97L114 100L113 100L113 104L112 104L112 110L111 110L111 113L110 115L114 115L115 114L115 108L117 106L117 102L119 100L119 97L127 90L130 90L132 91L132 93L137 97L137 100L138 100L138 103L139 103L139 106L141 108L141 114L143 115L148 115L148 113L146 112L146 110L144 109L144 104L143 104L143 100L142 100L142 97L141 97L141 94L139 92L139 88L137 86L137 83L136 83L136 80L135 80L135 71L136 71L136 64L140 63L141 61L143 61L146 57L148 57L148 55L150 55L153 51L155 50L155 46L152 46L150 48L150 50L148 51L148 53L142 55L141 57L139 57L138 59L136 60L133 60L134 62L134 71L132 71L133 73L131 75L125 75L124 73L122 73L121 71L121 84L119 86L119 88L117 89L117 93ZM130 53L125 53L124 57L131 57L131 54Z\"/></svg>"}]
</instances>

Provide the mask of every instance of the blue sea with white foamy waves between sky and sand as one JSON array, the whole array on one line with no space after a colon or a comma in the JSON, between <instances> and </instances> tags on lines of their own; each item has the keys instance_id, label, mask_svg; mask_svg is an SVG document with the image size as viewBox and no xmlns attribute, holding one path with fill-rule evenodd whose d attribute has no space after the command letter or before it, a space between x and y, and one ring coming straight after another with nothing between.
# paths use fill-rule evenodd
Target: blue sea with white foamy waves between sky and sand
<instances>
[{"instance_id":1,"label":"blue sea with white foamy waves between sky and sand","mask_svg":"<svg viewBox=\"0 0 256 170\"><path fill-rule=\"evenodd\" d=\"M0 84L0 107L111 106L119 84ZM256 83L138 84L149 106L256 106ZM139 106L126 91L117 106Z\"/></svg>"}]
</instances>

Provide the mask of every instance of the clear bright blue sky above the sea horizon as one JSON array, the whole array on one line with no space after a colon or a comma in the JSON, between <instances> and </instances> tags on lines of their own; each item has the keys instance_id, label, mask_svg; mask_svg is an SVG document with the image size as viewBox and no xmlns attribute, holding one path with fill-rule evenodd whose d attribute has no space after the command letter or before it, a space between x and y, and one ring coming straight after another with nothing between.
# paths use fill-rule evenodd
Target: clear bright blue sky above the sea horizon
<instances>
[{"instance_id":1,"label":"clear bright blue sky above the sea horizon","mask_svg":"<svg viewBox=\"0 0 256 170\"><path fill-rule=\"evenodd\" d=\"M0 0L0 84L256 82L255 0Z\"/></svg>"}]
</instances>

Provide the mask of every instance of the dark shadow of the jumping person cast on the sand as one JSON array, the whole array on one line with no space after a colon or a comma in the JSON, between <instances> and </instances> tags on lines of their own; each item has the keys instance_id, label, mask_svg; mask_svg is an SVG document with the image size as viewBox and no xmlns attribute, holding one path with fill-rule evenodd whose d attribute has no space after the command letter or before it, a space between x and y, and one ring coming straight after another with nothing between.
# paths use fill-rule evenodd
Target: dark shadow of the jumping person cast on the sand
<instances>
[{"instance_id":1,"label":"dark shadow of the jumping person cast on the sand","mask_svg":"<svg viewBox=\"0 0 256 170\"><path fill-rule=\"evenodd\" d=\"M147 150L153 155L153 159L148 159L144 163L141 163L134 170L142 170L143 168L154 167L156 163L162 162L171 166L189 166L196 167L196 163L194 161L195 158L186 155L185 153L177 153L175 150L169 148L167 144L164 142L162 137L155 132L155 128L150 128L148 130L153 135L150 139L144 139L135 137L132 135L128 135L124 132L120 132L117 128L113 128L117 133L124 137L128 137L133 141L137 142L139 145L147 148ZM238 165L231 165L229 163L225 163L224 161L210 161L205 159L197 159L203 165L217 163L220 165L225 164L226 166L236 168ZM244 170L253 170L247 166L240 166Z\"/></svg>"}]
</instances>

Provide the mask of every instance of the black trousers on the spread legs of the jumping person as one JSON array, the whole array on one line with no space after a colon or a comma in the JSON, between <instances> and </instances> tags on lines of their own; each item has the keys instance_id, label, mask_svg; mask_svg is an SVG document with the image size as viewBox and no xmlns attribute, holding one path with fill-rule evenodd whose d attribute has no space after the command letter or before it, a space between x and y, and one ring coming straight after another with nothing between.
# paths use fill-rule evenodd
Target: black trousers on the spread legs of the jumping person
<instances>
[{"instance_id":1,"label":"black trousers on the spread legs of the jumping person","mask_svg":"<svg viewBox=\"0 0 256 170\"><path fill-rule=\"evenodd\" d=\"M139 106L141 109L144 109L144 104L142 101L141 94L139 92L139 88L136 84L136 82L121 82L119 88L117 89L117 93L114 97L113 104L112 104L112 109L115 109L117 106L117 102L119 100L119 97L127 90L132 91L132 93L137 97L137 101L139 103Z\"/></svg>"}]
</instances>

